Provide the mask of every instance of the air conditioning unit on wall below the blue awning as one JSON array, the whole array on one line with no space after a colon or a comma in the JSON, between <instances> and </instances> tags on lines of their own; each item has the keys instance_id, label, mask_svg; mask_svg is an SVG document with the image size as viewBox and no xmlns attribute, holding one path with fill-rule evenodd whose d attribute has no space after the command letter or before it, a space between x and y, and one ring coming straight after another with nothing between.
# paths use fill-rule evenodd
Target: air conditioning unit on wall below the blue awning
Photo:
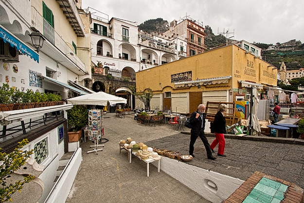
<instances>
[{"instance_id":1,"label":"air conditioning unit on wall below the blue awning","mask_svg":"<svg viewBox=\"0 0 304 203\"><path fill-rule=\"evenodd\" d=\"M19 62L19 52L10 43L0 40L0 59L7 63Z\"/></svg>"}]
</instances>

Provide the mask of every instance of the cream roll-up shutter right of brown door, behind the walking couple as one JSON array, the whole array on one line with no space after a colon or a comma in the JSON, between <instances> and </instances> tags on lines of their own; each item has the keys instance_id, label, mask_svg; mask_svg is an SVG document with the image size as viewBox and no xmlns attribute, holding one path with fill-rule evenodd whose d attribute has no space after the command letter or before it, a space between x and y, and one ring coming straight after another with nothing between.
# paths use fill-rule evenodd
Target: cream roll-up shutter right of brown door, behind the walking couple
<instances>
[{"instance_id":1,"label":"cream roll-up shutter right of brown door, behind the walking couple","mask_svg":"<svg viewBox=\"0 0 304 203\"><path fill-rule=\"evenodd\" d=\"M227 91L203 92L203 104L209 102L227 102ZM208 113L216 113L216 109L208 109Z\"/></svg>"}]
</instances>

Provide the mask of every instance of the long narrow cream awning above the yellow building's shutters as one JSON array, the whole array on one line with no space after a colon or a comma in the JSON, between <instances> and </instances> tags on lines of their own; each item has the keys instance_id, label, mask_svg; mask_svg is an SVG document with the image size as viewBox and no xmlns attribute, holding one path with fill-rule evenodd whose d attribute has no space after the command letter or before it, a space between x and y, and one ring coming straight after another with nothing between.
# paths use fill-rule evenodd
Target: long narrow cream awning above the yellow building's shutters
<instances>
[{"instance_id":1,"label":"long narrow cream awning above the yellow building's shutters","mask_svg":"<svg viewBox=\"0 0 304 203\"><path fill-rule=\"evenodd\" d=\"M176 83L174 83L174 85L176 88L198 86L198 85L213 85L213 84L220 84L220 83L228 83L228 80L230 78L231 78L231 75L224 76L224 77L213 77L213 78L200 79L200 80L176 82Z\"/></svg>"}]
</instances>

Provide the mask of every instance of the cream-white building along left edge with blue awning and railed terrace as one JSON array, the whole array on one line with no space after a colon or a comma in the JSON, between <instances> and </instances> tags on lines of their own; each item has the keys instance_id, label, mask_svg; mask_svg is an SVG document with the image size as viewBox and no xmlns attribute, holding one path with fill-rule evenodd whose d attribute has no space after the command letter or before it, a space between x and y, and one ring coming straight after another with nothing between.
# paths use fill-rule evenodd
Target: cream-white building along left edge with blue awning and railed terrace
<instances>
[{"instance_id":1,"label":"cream-white building along left edge with blue awning and railed terrace","mask_svg":"<svg viewBox=\"0 0 304 203\"><path fill-rule=\"evenodd\" d=\"M10 87L24 91L29 89L33 92L60 94L62 99L87 94L68 85L69 80L83 85L83 80L90 77L91 68L90 18L83 11L82 14L78 13L81 12L78 10L81 5L76 2L0 0L1 86L8 83ZM45 39L39 53L35 51L29 36L31 33L40 33ZM17 147L18 141L27 138L29 144L24 150L35 149L32 158L46 166L39 176L44 182L44 192L39 202L44 202L53 191L59 159L68 149L65 110L71 108L72 105L65 104L54 108L0 111L0 122L3 125L0 132L1 148L9 153ZM56 118L51 120L55 112ZM36 125L36 121L40 124ZM28 125L32 127L29 128ZM13 127L22 128L23 131L12 131L10 128ZM44 148L37 151L40 145ZM62 178L55 188L55 196L60 196L61 199L69 194L81 162L81 149L76 151L73 157L77 161L72 161L69 166L73 167L72 173L66 173L63 177L69 178ZM54 193L52 198L55 198ZM57 202L56 198L53 200Z\"/></svg>"}]
</instances>

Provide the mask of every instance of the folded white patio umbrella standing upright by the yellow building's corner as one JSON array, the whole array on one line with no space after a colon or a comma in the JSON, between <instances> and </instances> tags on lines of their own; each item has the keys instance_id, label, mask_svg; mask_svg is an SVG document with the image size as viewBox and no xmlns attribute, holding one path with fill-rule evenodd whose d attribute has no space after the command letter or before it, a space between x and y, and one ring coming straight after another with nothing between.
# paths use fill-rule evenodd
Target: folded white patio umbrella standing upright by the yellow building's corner
<instances>
[{"instance_id":1,"label":"folded white patio umbrella standing upright by the yellow building's corner","mask_svg":"<svg viewBox=\"0 0 304 203\"><path fill-rule=\"evenodd\" d=\"M258 111L258 104L259 104L259 93L256 88L252 88L252 111L251 111L251 126L253 131L251 130L252 135L258 135L259 132L261 132L259 119L256 115ZM251 104L250 104L251 106ZM250 125L250 119L247 120L246 126L248 127Z\"/></svg>"}]
</instances>

